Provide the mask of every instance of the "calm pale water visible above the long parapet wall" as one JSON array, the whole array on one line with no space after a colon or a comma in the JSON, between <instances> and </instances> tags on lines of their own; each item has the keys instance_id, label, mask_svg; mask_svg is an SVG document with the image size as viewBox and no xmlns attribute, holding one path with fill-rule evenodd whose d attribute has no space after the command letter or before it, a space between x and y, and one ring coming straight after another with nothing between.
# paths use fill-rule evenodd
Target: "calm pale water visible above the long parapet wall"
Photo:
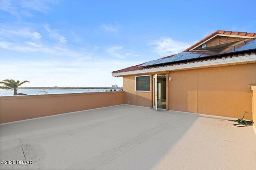
<instances>
[{"instance_id":1,"label":"calm pale water visible above the long parapet wall","mask_svg":"<svg viewBox=\"0 0 256 170\"><path fill-rule=\"evenodd\" d=\"M66 94L66 93L83 93L83 92L106 92L110 89L69 89L69 90L59 90L59 89L18 89L17 93L24 93L28 95L37 95L36 92L46 91L48 94ZM112 89L114 90L114 89ZM120 91L120 89L116 89ZM43 95L44 92L40 92L39 95ZM13 91L0 89L0 96L13 96Z\"/></svg>"}]
</instances>

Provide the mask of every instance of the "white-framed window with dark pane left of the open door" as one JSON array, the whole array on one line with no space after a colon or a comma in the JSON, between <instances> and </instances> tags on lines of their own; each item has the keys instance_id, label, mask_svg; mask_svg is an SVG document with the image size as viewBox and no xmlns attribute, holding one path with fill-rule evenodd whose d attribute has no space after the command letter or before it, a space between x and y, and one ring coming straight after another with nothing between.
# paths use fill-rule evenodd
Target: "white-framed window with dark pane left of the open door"
<instances>
[{"instance_id":1,"label":"white-framed window with dark pane left of the open door","mask_svg":"<svg viewBox=\"0 0 256 170\"><path fill-rule=\"evenodd\" d=\"M150 76L136 76L136 91L150 92Z\"/></svg>"}]
</instances>

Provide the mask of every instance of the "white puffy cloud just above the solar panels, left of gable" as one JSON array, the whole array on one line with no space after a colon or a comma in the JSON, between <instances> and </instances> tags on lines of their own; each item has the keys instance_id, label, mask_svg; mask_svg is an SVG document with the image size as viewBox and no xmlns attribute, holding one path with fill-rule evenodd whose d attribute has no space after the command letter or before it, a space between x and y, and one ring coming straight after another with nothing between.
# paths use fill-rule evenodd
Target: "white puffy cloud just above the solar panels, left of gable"
<instances>
[{"instance_id":1,"label":"white puffy cloud just above the solar panels, left of gable","mask_svg":"<svg viewBox=\"0 0 256 170\"><path fill-rule=\"evenodd\" d=\"M176 41L169 37L161 37L155 41L150 41L148 45L153 46L154 52L161 56L180 53L181 51L190 47L189 43Z\"/></svg>"}]
</instances>

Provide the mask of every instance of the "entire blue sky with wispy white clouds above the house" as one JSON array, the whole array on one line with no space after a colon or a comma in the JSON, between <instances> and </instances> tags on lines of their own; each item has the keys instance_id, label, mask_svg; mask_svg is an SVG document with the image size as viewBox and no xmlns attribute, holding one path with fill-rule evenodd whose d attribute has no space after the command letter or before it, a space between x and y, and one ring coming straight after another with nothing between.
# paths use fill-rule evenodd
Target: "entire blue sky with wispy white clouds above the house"
<instances>
[{"instance_id":1,"label":"entire blue sky with wispy white clouds above the house","mask_svg":"<svg viewBox=\"0 0 256 170\"><path fill-rule=\"evenodd\" d=\"M122 86L111 72L216 30L256 31L256 1L2 1L0 79Z\"/></svg>"}]
</instances>

